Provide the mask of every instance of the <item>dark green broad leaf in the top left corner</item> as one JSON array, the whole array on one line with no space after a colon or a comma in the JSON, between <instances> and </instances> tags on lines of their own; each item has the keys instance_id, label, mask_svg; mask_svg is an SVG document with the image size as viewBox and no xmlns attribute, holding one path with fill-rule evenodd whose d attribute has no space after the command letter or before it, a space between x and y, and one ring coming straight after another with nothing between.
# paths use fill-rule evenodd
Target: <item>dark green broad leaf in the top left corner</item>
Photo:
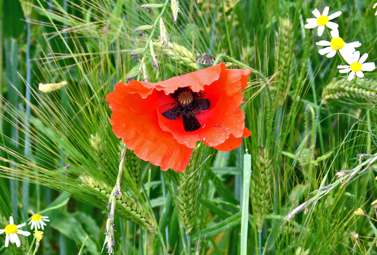
<instances>
[{"instance_id":1,"label":"dark green broad leaf in the top left corner","mask_svg":"<svg viewBox=\"0 0 377 255\"><path fill-rule=\"evenodd\" d=\"M16 38L24 31L25 15L18 0L4 0L2 22L4 38Z\"/></svg>"}]
</instances>

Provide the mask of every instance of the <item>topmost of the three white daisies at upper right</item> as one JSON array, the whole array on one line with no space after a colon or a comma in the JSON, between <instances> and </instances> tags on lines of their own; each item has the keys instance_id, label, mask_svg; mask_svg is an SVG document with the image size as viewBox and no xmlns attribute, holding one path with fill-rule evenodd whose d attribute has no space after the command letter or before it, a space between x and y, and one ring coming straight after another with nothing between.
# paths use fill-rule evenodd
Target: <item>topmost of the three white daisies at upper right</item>
<instances>
[{"instance_id":1,"label":"topmost of the three white daisies at upper right","mask_svg":"<svg viewBox=\"0 0 377 255\"><path fill-rule=\"evenodd\" d=\"M338 29L338 24L331 22L329 20L339 17L339 15L342 14L341 11L335 12L327 16L329 14L329 7L326 6L323 10L322 15L318 11L318 9L314 9L313 14L316 18L307 19L308 24L305 25L305 28L316 28L318 26L318 36L322 36L323 31L325 30L325 26L332 30Z\"/></svg>"}]
</instances>

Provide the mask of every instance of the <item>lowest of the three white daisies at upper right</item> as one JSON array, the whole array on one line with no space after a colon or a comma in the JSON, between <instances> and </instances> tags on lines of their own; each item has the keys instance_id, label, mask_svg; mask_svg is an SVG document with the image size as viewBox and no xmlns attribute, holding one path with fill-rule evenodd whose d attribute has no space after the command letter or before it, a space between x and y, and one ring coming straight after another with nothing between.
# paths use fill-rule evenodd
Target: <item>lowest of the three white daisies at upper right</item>
<instances>
[{"instance_id":1,"label":"lowest of the three white daisies at upper right","mask_svg":"<svg viewBox=\"0 0 377 255\"><path fill-rule=\"evenodd\" d=\"M352 54L352 57L345 59L349 65L338 65L338 68L345 68L339 70L339 73L348 73L351 71L348 75L348 80L352 80L355 77L355 73L357 77L364 77L363 71L373 71L375 69L373 62L364 63L367 57L368 53L360 57L360 51L356 51Z\"/></svg>"}]
</instances>

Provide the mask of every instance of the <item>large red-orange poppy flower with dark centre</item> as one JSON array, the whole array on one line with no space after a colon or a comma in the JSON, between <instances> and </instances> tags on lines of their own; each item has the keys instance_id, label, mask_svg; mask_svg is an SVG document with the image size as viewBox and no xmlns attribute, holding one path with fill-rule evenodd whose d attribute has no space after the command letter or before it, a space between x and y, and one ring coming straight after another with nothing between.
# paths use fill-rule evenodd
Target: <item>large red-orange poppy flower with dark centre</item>
<instances>
[{"instance_id":1,"label":"large red-orange poppy flower with dark centre","mask_svg":"<svg viewBox=\"0 0 377 255\"><path fill-rule=\"evenodd\" d=\"M222 151L250 136L239 106L249 70L224 63L157 83L119 82L106 100L113 132L161 170L183 171L197 141Z\"/></svg>"}]
</instances>

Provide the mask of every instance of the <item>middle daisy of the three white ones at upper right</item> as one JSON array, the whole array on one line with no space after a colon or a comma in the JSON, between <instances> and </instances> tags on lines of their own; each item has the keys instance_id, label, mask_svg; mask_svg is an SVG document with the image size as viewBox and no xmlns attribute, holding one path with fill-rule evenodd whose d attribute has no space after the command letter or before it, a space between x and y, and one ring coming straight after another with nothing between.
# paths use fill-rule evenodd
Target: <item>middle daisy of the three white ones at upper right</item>
<instances>
[{"instance_id":1,"label":"middle daisy of the three white ones at upper right","mask_svg":"<svg viewBox=\"0 0 377 255\"><path fill-rule=\"evenodd\" d=\"M316 43L316 45L319 45L319 46L328 46L318 51L318 53L321 55L327 54L326 57L334 57L336 54L336 51L339 51L339 53L344 58L350 58L352 57L352 53L356 51L355 48L361 46L361 43L359 43L359 41L352 42L352 43L345 43L343 39L339 37L338 30L331 30L330 34L331 34L331 37L333 37L333 39L331 39L331 42L322 40Z\"/></svg>"}]
</instances>

